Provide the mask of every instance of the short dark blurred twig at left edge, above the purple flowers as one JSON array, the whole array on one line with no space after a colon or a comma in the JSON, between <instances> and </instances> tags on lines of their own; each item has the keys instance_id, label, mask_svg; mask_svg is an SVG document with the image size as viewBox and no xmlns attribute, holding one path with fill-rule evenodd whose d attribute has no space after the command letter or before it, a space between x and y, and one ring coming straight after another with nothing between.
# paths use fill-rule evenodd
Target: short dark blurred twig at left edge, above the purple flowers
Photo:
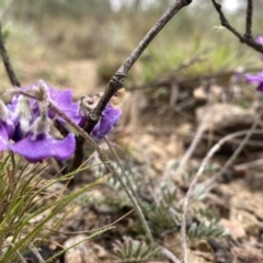
<instances>
[{"instance_id":1,"label":"short dark blurred twig at left edge, above the purple flowers","mask_svg":"<svg viewBox=\"0 0 263 263\"><path fill-rule=\"evenodd\" d=\"M7 70L10 82L14 87L20 87L20 82L19 82L19 80L18 80L18 78L14 73L13 66L10 62L9 55L8 55L8 52L7 52L5 46L4 46L1 21L0 21L0 52L1 52L3 65L4 65L4 68Z\"/></svg>"}]
</instances>

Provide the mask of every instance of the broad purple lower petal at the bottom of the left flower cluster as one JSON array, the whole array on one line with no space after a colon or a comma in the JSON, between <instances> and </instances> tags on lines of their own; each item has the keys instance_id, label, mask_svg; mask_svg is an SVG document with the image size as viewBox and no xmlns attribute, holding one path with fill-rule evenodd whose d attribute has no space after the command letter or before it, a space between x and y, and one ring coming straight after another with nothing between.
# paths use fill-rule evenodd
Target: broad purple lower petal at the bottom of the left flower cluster
<instances>
[{"instance_id":1,"label":"broad purple lower petal at the bottom of the left flower cluster","mask_svg":"<svg viewBox=\"0 0 263 263\"><path fill-rule=\"evenodd\" d=\"M36 139L28 135L9 149L23 156L30 162L43 161L54 157L57 160L66 160L72 156L76 148L75 135L69 134L65 139L57 140L49 136L38 136Z\"/></svg>"}]
</instances>

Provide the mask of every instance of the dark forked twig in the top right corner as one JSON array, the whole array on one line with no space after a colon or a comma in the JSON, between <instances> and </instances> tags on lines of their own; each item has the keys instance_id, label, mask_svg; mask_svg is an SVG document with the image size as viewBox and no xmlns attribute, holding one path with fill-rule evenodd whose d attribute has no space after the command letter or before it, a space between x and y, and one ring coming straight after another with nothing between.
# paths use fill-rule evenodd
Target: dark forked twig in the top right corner
<instances>
[{"instance_id":1,"label":"dark forked twig in the top right corner","mask_svg":"<svg viewBox=\"0 0 263 263\"><path fill-rule=\"evenodd\" d=\"M247 34L242 35L241 33L239 33L226 19L224 12L221 11L221 4L217 3L215 0L211 0L211 2L214 4L216 11L219 14L221 25L225 26L227 30L229 30L233 35L236 35L241 43L247 44L248 46L252 47L254 50L262 54L263 53L263 46L260 45L259 43L256 43L253 39L253 37L247 36ZM248 3L248 8L250 8L250 3ZM251 8L252 8L252 1L251 1ZM251 14L248 14L250 11L251 11ZM249 15L251 15L251 18L248 18ZM252 25L252 23L250 24L250 20L252 21L252 9L248 10L248 12L247 12L247 28L249 28L249 26Z\"/></svg>"}]
</instances>

